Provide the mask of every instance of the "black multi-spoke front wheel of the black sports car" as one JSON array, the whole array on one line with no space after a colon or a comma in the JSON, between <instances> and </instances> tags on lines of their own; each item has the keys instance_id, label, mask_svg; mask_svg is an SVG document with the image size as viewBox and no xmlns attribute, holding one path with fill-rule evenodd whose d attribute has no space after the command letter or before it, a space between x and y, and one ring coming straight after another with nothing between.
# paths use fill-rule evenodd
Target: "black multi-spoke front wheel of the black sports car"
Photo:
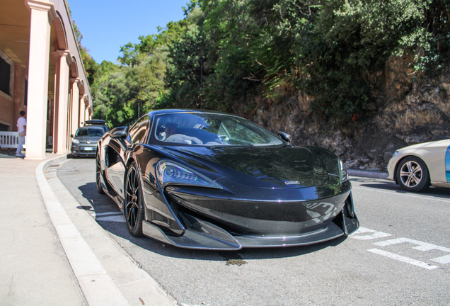
<instances>
[{"instance_id":1,"label":"black multi-spoke front wheel of the black sports car","mask_svg":"<svg viewBox=\"0 0 450 306\"><path fill-rule=\"evenodd\" d=\"M144 221L144 205L139 171L134 162L127 170L125 177L125 196L123 213L127 221L128 231L134 237L142 237L142 221Z\"/></svg>"}]
</instances>

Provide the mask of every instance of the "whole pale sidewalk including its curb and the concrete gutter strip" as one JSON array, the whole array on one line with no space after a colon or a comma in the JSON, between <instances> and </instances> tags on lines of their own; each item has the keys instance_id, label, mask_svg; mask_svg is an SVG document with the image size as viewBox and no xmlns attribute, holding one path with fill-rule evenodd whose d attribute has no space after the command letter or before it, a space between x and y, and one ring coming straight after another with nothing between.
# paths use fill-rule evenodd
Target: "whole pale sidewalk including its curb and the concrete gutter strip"
<instances>
[{"instance_id":1,"label":"whole pale sidewalk including its curb and the concrete gutter strip","mask_svg":"<svg viewBox=\"0 0 450 306\"><path fill-rule=\"evenodd\" d=\"M66 159L0 158L1 305L177 305L45 170Z\"/></svg>"}]
</instances>

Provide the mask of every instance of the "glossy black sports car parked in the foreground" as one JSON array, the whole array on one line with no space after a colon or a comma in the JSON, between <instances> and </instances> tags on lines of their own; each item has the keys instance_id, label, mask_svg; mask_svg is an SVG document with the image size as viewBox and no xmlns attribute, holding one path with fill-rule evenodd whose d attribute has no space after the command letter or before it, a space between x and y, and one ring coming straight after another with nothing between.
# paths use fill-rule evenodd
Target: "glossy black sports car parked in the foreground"
<instances>
[{"instance_id":1,"label":"glossy black sports car parked in the foreground","mask_svg":"<svg viewBox=\"0 0 450 306\"><path fill-rule=\"evenodd\" d=\"M129 232L192 249L298 246L359 227L342 162L213 111L151 111L98 142L96 181Z\"/></svg>"}]
</instances>

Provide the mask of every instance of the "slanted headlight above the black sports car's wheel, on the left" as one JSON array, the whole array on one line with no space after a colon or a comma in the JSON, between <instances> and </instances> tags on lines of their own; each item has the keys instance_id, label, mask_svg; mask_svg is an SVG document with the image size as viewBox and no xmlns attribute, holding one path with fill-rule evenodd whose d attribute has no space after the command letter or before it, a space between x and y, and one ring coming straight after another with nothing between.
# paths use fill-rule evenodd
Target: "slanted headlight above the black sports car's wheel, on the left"
<instances>
[{"instance_id":1,"label":"slanted headlight above the black sports car's wheel, on the left","mask_svg":"<svg viewBox=\"0 0 450 306\"><path fill-rule=\"evenodd\" d=\"M166 185L199 186L208 188L221 188L219 184L208 179L197 171L188 169L175 162L161 161L156 166L156 177L164 188Z\"/></svg>"}]
</instances>

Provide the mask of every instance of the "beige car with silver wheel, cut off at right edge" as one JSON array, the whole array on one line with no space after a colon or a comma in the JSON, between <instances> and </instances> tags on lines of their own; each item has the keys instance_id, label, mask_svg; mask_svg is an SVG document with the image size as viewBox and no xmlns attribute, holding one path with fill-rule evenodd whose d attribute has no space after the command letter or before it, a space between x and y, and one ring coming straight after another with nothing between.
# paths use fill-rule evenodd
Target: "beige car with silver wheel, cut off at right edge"
<instances>
[{"instance_id":1,"label":"beige car with silver wheel, cut off at right edge","mask_svg":"<svg viewBox=\"0 0 450 306\"><path fill-rule=\"evenodd\" d=\"M450 188L450 140L438 140L398 149L388 163L388 179L406 191L429 186Z\"/></svg>"}]
</instances>

